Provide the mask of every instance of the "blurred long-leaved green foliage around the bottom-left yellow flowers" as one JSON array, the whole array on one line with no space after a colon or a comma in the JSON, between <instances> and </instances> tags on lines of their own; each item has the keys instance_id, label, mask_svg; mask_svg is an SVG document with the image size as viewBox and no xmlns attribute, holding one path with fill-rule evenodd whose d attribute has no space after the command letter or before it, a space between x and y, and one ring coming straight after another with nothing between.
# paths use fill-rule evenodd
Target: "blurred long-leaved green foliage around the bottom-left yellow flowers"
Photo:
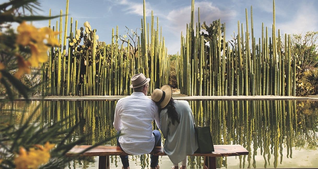
<instances>
[{"instance_id":1,"label":"blurred long-leaved green foliage around the bottom-left yellow flowers","mask_svg":"<svg viewBox=\"0 0 318 169\"><path fill-rule=\"evenodd\" d=\"M70 150L74 145L82 143L83 138L72 142L64 143L67 139L72 137L74 127L67 128L67 123L64 123L67 119L56 122L55 124L46 124L44 126L38 126L36 123L31 123L31 119L35 115L36 111L41 105L38 105L29 118L22 122L25 111L21 112L22 118L20 123L16 126L10 122L2 123L0 125L0 144L4 150L1 152L3 162L0 164L1 168L15 168L13 163L15 154L18 154L19 148L23 147L26 150L33 147L35 144L45 144L46 142L54 143L57 146L53 149L51 154L51 160L41 168L47 167L64 167L71 159L65 158L65 153ZM14 112L11 112L14 113ZM39 118L40 116L38 116ZM39 128L40 127L40 128Z\"/></svg>"}]
</instances>

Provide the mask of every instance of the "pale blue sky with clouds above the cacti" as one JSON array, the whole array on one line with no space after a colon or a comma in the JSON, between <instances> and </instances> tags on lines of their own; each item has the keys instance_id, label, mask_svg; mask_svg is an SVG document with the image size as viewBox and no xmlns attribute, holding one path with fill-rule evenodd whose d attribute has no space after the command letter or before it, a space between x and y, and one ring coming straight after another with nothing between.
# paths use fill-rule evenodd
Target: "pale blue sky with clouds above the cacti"
<instances>
[{"instance_id":1,"label":"pale blue sky with clouds above the cacti","mask_svg":"<svg viewBox=\"0 0 318 169\"><path fill-rule=\"evenodd\" d=\"M3 1L3 0L1 0ZM39 0L39 13L47 15L52 8L52 15L65 12L66 0ZM119 26L119 33L141 27L143 0L70 0L69 16L77 19L79 26L85 21L97 29L101 41L111 41L112 28ZM233 31L237 33L237 21L245 24L245 8L253 6L254 36L261 36L261 25L268 26L270 34L273 24L272 0L196 0L195 16L200 7L201 23L207 24L218 18L226 23L226 39L231 40ZM150 22L151 10L159 17L162 34L165 36L168 54L180 50L180 34L190 22L191 0L146 0L147 22ZM195 17L197 20L197 17ZM63 18L63 28L64 28ZM249 19L250 24L250 19ZM54 22L55 23L55 20ZM47 26L47 21L34 22L36 26ZM281 33L301 33L318 31L318 0L276 0L276 28Z\"/></svg>"}]
</instances>

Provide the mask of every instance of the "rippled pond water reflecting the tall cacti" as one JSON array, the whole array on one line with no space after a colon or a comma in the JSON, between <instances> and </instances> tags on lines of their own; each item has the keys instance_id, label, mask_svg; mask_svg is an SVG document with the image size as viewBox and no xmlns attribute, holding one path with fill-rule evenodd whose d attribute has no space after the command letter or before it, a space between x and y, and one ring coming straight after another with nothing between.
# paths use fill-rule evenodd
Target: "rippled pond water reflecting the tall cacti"
<instances>
[{"instance_id":1,"label":"rippled pond water reflecting the tall cacti","mask_svg":"<svg viewBox=\"0 0 318 169\"><path fill-rule=\"evenodd\" d=\"M249 155L217 158L218 168L318 167L318 102L311 100L189 101L196 123L210 126L215 144L240 144ZM93 144L116 134L112 126L116 101L31 101L27 110L42 104L35 121L39 125L68 117L75 130L73 140L85 136ZM22 110L24 101L14 102ZM10 105L5 105L9 108ZM29 115L25 115L24 119ZM0 112L1 121L10 114ZM13 114L14 121L21 113ZM155 127L155 126L154 126ZM113 139L109 145L116 145ZM111 168L121 168L119 156L111 156ZM129 156L130 168L148 168L149 155ZM202 168L203 158L189 157L188 168ZM159 157L161 168L170 168L167 156ZM98 168L98 157L79 158L68 168Z\"/></svg>"}]
</instances>

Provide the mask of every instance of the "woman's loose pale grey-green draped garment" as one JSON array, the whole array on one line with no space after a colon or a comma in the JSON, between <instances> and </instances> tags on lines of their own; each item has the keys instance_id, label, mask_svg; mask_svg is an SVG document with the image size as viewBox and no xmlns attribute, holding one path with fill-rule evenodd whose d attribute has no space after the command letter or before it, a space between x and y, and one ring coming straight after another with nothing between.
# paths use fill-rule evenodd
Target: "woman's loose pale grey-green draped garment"
<instances>
[{"instance_id":1,"label":"woman's loose pale grey-green draped garment","mask_svg":"<svg viewBox=\"0 0 318 169\"><path fill-rule=\"evenodd\" d=\"M198 143L194 131L195 121L188 101L174 100L176 112L180 123L172 124L168 117L167 109L160 112L161 132L166 139L163 151L171 162L177 164L187 155L192 155L198 149Z\"/></svg>"}]
</instances>

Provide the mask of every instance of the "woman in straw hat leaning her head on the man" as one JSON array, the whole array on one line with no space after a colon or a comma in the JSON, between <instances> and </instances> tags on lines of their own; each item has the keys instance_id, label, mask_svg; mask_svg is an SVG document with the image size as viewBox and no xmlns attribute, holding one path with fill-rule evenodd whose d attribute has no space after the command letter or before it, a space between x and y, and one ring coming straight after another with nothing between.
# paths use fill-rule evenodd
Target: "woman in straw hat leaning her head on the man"
<instances>
[{"instance_id":1,"label":"woman in straw hat leaning her head on the man","mask_svg":"<svg viewBox=\"0 0 318 169\"><path fill-rule=\"evenodd\" d=\"M195 122L189 103L185 100L174 100L171 96L171 87L163 85L152 92L151 99L161 108L161 132L166 139L163 151L173 163L171 168L178 169L178 163L182 161L180 168L185 169L187 155L192 155L198 149Z\"/></svg>"}]
</instances>

